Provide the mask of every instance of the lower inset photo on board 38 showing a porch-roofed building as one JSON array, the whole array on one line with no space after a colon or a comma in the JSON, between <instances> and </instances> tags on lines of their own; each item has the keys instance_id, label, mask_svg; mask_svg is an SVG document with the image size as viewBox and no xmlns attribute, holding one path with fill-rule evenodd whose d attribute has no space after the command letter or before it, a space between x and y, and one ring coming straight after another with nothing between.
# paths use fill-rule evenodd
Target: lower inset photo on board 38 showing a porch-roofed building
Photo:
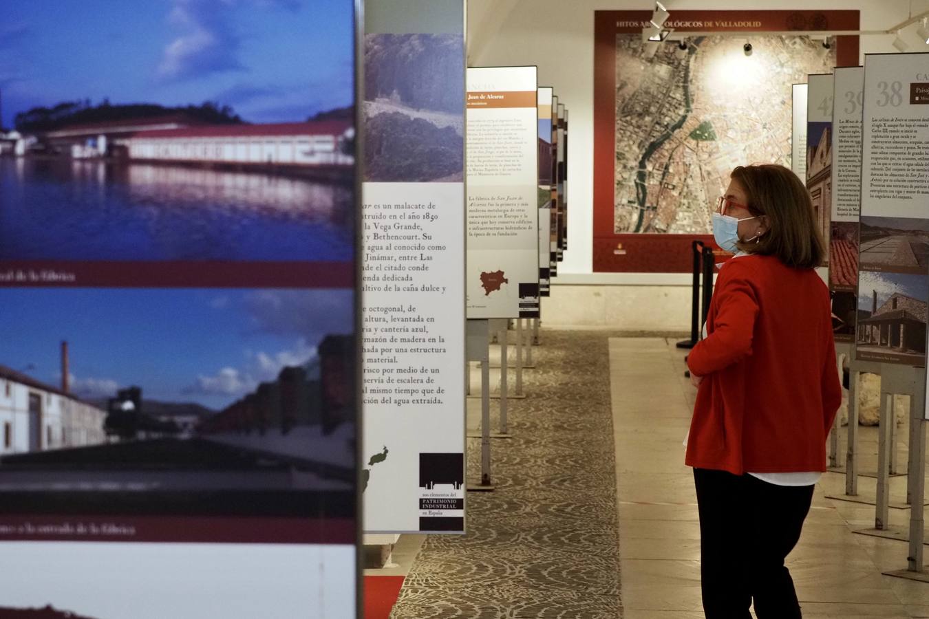
<instances>
[{"instance_id":1,"label":"lower inset photo on board 38 showing a porch-roofed building","mask_svg":"<svg viewBox=\"0 0 929 619\"><path fill-rule=\"evenodd\" d=\"M857 357L921 365L929 276L862 271L858 276Z\"/></svg>"}]
</instances>

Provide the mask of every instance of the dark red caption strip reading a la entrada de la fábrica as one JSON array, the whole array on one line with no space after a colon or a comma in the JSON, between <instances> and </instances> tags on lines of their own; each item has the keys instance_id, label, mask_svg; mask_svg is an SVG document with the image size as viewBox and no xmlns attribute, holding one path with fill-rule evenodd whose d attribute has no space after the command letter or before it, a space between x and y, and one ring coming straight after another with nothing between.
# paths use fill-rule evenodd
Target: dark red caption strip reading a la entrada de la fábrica
<instances>
[{"instance_id":1,"label":"dark red caption strip reading a la entrada de la f\u00e1brica","mask_svg":"<svg viewBox=\"0 0 929 619\"><path fill-rule=\"evenodd\" d=\"M0 540L183 542L213 544L354 544L348 518L164 518L0 516Z\"/></svg>"}]
</instances>

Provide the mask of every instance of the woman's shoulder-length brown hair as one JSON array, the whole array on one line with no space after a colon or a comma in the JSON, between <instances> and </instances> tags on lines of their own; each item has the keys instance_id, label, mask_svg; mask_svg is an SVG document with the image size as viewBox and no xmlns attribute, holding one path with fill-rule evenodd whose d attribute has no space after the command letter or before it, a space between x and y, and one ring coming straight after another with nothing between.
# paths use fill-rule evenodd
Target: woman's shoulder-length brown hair
<instances>
[{"instance_id":1,"label":"woman's shoulder-length brown hair","mask_svg":"<svg viewBox=\"0 0 929 619\"><path fill-rule=\"evenodd\" d=\"M822 264L826 244L809 192L796 174L782 165L762 163L739 165L730 176L745 189L749 213L767 218L765 234L757 242L739 242L739 250L775 255L797 268Z\"/></svg>"}]
</instances>

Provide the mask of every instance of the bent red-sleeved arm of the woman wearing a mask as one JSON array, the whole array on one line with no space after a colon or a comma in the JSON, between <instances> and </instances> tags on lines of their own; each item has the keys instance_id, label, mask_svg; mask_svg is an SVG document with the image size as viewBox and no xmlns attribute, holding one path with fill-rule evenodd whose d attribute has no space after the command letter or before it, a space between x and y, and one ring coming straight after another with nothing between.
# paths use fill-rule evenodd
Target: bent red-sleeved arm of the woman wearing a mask
<instances>
[{"instance_id":1,"label":"bent red-sleeved arm of the woman wearing a mask","mask_svg":"<svg viewBox=\"0 0 929 619\"><path fill-rule=\"evenodd\" d=\"M706 376L752 355L758 301L752 271L739 260L726 264L713 290L713 333L687 355L691 375Z\"/></svg>"}]
</instances>

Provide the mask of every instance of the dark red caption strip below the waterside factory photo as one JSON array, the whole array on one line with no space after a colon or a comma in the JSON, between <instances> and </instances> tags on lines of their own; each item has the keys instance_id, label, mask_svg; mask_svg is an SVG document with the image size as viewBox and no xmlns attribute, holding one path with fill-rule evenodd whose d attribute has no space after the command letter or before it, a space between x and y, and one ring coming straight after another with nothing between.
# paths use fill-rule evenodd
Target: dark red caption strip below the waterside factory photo
<instances>
[{"instance_id":1,"label":"dark red caption strip below the waterside factory photo","mask_svg":"<svg viewBox=\"0 0 929 619\"><path fill-rule=\"evenodd\" d=\"M352 288L350 262L0 262L0 288Z\"/></svg>"}]
</instances>

